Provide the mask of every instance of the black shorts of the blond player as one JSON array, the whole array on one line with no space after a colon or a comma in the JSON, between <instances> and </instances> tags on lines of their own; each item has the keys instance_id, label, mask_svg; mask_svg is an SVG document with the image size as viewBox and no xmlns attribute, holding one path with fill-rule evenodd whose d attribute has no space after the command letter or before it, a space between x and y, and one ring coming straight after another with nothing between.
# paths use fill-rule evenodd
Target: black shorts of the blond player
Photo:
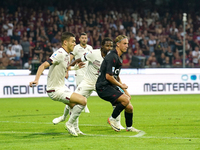
<instances>
[{"instance_id":1,"label":"black shorts of the blond player","mask_svg":"<svg viewBox=\"0 0 200 150\"><path fill-rule=\"evenodd\" d=\"M123 94L117 87L107 85L96 89L100 98L109 101L112 105L117 103L117 99Z\"/></svg>"}]
</instances>

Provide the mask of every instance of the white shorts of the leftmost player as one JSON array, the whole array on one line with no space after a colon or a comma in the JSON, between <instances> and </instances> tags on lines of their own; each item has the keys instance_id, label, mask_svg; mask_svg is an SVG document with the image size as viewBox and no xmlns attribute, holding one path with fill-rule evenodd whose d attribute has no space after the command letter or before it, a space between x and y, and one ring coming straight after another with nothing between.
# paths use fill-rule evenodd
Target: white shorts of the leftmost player
<instances>
[{"instance_id":1,"label":"white shorts of the leftmost player","mask_svg":"<svg viewBox=\"0 0 200 150\"><path fill-rule=\"evenodd\" d=\"M47 94L54 101L59 101L63 102L64 104L69 104L70 97L73 94L73 92L70 89L68 89L68 87L63 87L56 90L49 90L49 91L47 90Z\"/></svg>"}]
</instances>

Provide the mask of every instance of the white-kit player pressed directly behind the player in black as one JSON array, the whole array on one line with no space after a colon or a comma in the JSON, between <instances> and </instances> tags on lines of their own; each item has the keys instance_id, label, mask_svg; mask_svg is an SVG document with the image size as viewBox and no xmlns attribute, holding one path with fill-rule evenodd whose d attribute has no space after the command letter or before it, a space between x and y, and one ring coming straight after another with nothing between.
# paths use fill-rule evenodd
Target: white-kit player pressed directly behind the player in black
<instances>
[{"instance_id":1,"label":"white-kit player pressed directly behind the player in black","mask_svg":"<svg viewBox=\"0 0 200 150\"><path fill-rule=\"evenodd\" d=\"M78 94L83 95L84 97L88 98L93 91L96 91L95 84L98 78L99 69L101 66L101 63L106 56L107 52L113 49L113 41L110 38L104 38L101 44L101 49L93 50L85 55L83 55L81 58L76 59L71 65L74 65L78 62L86 62L88 61L88 67L87 71L85 72L83 81L78 85L75 92ZM115 109L115 106L113 106L113 109ZM69 113L69 107L66 106L64 110L64 114L58 118L55 118L53 120L54 124L58 124L61 121L64 121ZM120 115L118 117L118 123L121 126L120 123ZM74 123L75 130L78 134L83 134L83 132L80 131L78 127L78 118L76 120L77 122ZM121 126L121 129L124 129L123 126Z\"/></svg>"}]
</instances>

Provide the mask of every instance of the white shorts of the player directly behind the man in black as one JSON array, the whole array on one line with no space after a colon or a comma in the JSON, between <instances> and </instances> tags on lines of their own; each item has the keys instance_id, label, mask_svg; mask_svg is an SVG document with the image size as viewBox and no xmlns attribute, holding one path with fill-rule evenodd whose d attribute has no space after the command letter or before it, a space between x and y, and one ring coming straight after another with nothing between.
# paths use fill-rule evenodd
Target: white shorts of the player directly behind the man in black
<instances>
[{"instance_id":1,"label":"white shorts of the player directly behind the man in black","mask_svg":"<svg viewBox=\"0 0 200 150\"><path fill-rule=\"evenodd\" d=\"M96 91L95 84L91 84L90 82L82 80L82 82L76 88L75 93L78 93L88 98L92 94L93 91Z\"/></svg>"}]
</instances>

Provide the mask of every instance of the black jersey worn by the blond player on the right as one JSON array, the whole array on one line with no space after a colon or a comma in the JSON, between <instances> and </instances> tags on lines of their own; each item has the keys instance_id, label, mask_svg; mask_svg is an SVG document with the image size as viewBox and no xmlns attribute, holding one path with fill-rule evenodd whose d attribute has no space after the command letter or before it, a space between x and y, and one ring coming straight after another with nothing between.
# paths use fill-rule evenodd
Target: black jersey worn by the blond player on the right
<instances>
[{"instance_id":1,"label":"black jersey worn by the blond player on the right","mask_svg":"<svg viewBox=\"0 0 200 150\"><path fill-rule=\"evenodd\" d=\"M116 50L108 52L104 58L99 70L99 77L96 82L96 88L102 88L107 85L112 85L107 79L106 74L113 75L117 80L122 67L122 59L118 56Z\"/></svg>"}]
</instances>

